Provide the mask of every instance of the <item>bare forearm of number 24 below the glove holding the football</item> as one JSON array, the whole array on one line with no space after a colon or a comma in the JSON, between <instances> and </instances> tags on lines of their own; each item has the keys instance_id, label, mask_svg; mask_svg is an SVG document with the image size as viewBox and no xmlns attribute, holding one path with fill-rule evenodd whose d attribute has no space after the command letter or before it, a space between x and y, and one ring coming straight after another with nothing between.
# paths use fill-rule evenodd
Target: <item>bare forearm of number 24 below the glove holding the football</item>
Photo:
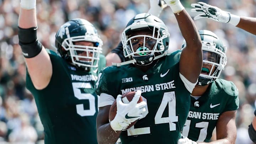
<instances>
[{"instance_id":1,"label":"bare forearm of number 24 below the glove holding the football","mask_svg":"<svg viewBox=\"0 0 256 144\"><path fill-rule=\"evenodd\" d=\"M119 138L122 131L114 131L110 123L100 126L97 130L98 144L114 144Z\"/></svg>"}]
</instances>

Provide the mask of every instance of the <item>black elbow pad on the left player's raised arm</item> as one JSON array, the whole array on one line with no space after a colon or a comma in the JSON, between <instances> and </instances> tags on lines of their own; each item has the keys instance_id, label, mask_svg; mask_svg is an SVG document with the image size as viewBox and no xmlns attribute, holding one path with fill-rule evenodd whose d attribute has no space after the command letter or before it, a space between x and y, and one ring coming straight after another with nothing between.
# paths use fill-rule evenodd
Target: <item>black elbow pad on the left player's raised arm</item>
<instances>
[{"instance_id":1,"label":"black elbow pad on the left player's raised arm","mask_svg":"<svg viewBox=\"0 0 256 144\"><path fill-rule=\"evenodd\" d=\"M33 58L42 50L42 44L37 39L37 27L18 27L19 44L25 58Z\"/></svg>"}]
</instances>

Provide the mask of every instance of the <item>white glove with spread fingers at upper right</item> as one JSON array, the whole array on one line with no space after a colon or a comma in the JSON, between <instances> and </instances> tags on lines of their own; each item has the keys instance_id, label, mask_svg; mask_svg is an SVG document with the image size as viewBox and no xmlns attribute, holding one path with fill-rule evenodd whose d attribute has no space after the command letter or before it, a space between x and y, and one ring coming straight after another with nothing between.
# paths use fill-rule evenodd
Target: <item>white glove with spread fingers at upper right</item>
<instances>
[{"instance_id":1,"label":"white glove with spread fingers at upper right","mask_svg":"<svg viewBox=\"0 0 256 144\"><path fill-rule=\"evenodd\" d=\"M208 5L204 2L198 2L197 4L191 4L195 9L191 9L191 12L203 12L203 14L194 17L194 20L201 18L210 18L217 22L231 23L232 25L238 25L240 17L230 14L230 12L223 11L216 6Z\"/></svg>"}]
</instances>

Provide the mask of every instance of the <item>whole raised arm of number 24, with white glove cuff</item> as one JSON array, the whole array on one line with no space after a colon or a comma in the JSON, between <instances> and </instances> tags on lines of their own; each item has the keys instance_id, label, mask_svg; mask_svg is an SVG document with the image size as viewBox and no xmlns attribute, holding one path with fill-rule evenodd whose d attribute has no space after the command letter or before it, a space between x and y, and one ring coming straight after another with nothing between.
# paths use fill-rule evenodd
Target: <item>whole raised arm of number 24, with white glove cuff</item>
<instances>
[{"instance_id":1,"label":"whole raised arm of number 24, with white glove cuff","mask_svg":"<svg viewBox=\"0 0 256 144\"><path fill-rule=\"evenodd\" d=\"M187 43L186 48L181 53L180 73L190 82L196 83L203 63L201 38L192 18L188 15L180 1L165 0L165 2L174 12L182 36Z\"/></svg>"}]
</instances>

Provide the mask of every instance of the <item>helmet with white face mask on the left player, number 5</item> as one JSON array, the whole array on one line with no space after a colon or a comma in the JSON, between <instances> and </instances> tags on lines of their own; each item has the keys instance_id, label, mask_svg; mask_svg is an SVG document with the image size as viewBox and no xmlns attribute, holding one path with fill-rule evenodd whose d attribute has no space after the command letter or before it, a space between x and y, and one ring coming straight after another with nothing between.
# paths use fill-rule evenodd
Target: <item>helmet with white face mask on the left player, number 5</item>
<instances>
[{"instance_id":1,"label":"helmet with white face mask on the left player, number 5","mask_svg":"<svg viewBox=\"0 0 256 144\"><path fill-rule=\"evenodd\" d=\"M70 20L60 27L55 38L55 47L62 58L86 70L98 67L103 42L90 22Z\"/></svg>"}]
</instances>

